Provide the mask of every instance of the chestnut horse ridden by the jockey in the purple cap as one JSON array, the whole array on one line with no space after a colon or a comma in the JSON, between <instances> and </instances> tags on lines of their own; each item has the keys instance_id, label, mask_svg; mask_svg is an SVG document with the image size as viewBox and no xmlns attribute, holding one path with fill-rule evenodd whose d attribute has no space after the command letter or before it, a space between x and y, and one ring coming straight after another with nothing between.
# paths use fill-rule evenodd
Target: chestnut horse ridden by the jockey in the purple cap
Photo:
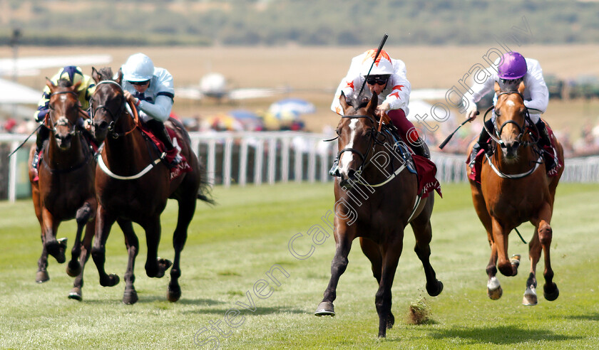
<instances>
[{"instance_id":1,"label":"chestnut horse ridden by the jockey in the purple cap","mask_svg":"<svg viewBox=\"0 0 599 350\"><path fill-rule=\"evenodd\" d=\"M496 83L495 130L488 130L493 139L494 153L482 160L480 184L470 179L471 176L469 179L474 208L491 246L491 259L486 267L488 297L499 299L503 294L496 277L497 267L506 276L518 273L520 257L514 255L508 258L508 235L521 223L530 221L535 228L528 243L531 272L526 280L523 304L536 305L536 265L541 258L541 250L545 258L543 295L549 301L559 296L558 286L553 282L549 248L553 237L550 225L553 201L563 166L556 176L547 176L541 151L526 129L528 110L522 95L525 86L521 83L517 88L502 91ZM558 159L563 159L560 142L555 137L553 141ZM472 147L473 143L469 152ZM470 166L466 166L466 171L471 174Z\"/></svg>"}]
</instances>

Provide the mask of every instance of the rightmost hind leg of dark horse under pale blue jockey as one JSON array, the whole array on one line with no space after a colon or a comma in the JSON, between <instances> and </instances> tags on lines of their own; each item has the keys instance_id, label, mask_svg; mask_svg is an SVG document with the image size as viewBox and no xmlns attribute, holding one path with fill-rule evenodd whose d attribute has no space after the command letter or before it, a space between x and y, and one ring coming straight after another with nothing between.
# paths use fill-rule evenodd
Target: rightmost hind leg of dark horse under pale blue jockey
<instances>
[{"instance_id":1,"label":"rightmost hind leg of dark horse under pale blue jockey","mask_svg":"<svg viewBox=\"0 0 599 350\"><path fill-rule=\"evenodd\" d=\"M198 193L198 191L191 191L190 193L194 194ZM183 250L183 246L185 246L185 241L187 240L188 227L195 213L197 198L194 194L193 196L181 198L178 202L179 215L177 228L175 228L175 233L173 233L175 259L173 260L173 267L170 269L170 282L168 283L168 291L166 293L169 302L176 302L181 297L181 287L179 286L179 277L181 277L181 250Z\"/></svg>"}]
</instances>

